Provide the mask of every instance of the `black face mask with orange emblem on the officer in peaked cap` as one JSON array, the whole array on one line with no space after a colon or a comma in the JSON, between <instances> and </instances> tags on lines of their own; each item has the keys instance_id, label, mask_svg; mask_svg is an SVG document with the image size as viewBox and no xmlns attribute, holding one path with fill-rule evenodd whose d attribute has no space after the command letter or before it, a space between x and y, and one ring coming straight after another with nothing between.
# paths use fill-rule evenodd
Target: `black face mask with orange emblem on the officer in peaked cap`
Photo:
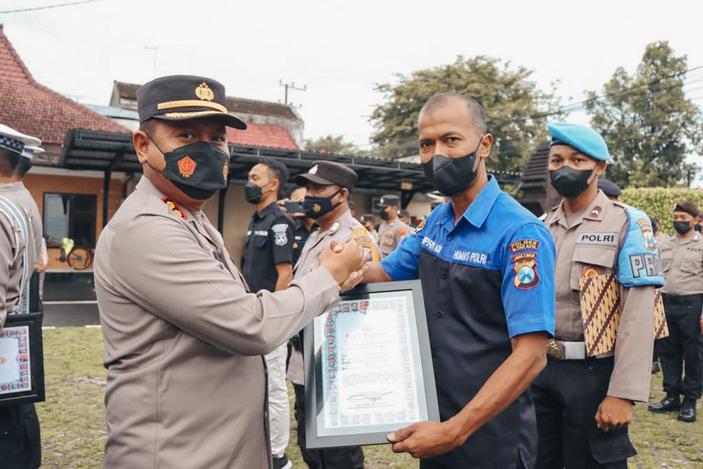
<instances>
[{"instance_id":1,"label":"black face mask with orange emblem on the officer in peaked cap","mask_svg":"<svg viewBox=\"0 0 703 469\"><path fill-rule=\"evenodd\" d=\"M190 198L206 200L219 189L227 187L229 155L212 142L198 141L164 153L149 136L154 146L164 155L166 167L159 171Z\"/></svg>"}]
</instances>

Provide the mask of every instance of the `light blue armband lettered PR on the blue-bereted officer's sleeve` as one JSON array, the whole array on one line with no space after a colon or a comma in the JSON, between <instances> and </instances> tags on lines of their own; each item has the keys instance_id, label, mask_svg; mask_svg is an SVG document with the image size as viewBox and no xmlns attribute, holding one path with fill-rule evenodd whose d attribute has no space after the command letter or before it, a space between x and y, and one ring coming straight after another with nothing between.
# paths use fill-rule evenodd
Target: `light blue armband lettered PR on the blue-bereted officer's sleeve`
<instances>
[{"instance_id":1,"label":"light blue armband lettered PR on the blue-bereted officer's sleeve","mask_svg":"<svg viewBox=\"0 0 703 469\"><path fill-rule=\"evenodd\" d=\"M642 210L628 207L624 209L628 217L625 239L618 253L618 281L624 287L638 285L664 285L659 254L654 247L652 225Z\"/></svg>"}]
</instances>

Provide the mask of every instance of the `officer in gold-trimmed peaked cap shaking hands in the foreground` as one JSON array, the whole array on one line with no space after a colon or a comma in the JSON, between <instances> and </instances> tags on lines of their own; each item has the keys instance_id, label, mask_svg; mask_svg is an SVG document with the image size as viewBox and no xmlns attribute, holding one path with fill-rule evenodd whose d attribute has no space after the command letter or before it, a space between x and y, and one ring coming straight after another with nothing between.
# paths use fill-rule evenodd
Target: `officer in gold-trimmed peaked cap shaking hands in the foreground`
<instances>
[{"instance_id":1,"label":"officer in gold-trimmed peaked cap shaking hands in the foreground","mask_svg":"<svg viewBox=\"0 0 703 469\"><path fill-rule=\"evenodd\" d=\"M263 356L338 299L354 243L276 293L250 293L202 207L227 184L222 84L137 91L144 177L103 229L94 264L108 368L107 468L271 468ZM348 250L348 252L347 252Z\"/></svg>"}]
</instances>

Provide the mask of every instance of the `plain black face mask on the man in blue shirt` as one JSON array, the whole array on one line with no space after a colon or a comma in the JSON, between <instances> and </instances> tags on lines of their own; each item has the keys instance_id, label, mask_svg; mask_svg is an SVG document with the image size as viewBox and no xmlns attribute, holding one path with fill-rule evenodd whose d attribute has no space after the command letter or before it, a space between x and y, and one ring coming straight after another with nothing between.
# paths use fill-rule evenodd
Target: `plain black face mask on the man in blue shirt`
<instances>
[{"instance_id":1,"label":"plain black face mask on the man in blue shirt","mask_svg":"<svg viewBox=\"0 0 703 469\"><path fill-rule=\"evenodd\" d=\"M466 191L476 179L477 171L474 171L474 164L482 141L483 136L476 150L459 158L432 155L432 160L423 163L427 181L430 181L441 195L447 197Z\"/></svg>"}]
</instances>

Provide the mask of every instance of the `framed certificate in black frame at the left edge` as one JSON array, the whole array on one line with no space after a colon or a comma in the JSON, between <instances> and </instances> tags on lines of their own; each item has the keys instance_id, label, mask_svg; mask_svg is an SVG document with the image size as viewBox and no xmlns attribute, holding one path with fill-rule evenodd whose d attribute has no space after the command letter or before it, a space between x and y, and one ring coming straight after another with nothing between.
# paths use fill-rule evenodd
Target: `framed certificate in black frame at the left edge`
<instances>
[{"instance_id":1,"label":"framed certificate in black frame at the left edge","mask_svg":"<svg viewBox=\"0 0 703 469\"><path fill-rule=\"evenodd\" d=\"M0 332L0 406L44 401L43 313L8 314Z\"/></svg>"}]
</instances>

